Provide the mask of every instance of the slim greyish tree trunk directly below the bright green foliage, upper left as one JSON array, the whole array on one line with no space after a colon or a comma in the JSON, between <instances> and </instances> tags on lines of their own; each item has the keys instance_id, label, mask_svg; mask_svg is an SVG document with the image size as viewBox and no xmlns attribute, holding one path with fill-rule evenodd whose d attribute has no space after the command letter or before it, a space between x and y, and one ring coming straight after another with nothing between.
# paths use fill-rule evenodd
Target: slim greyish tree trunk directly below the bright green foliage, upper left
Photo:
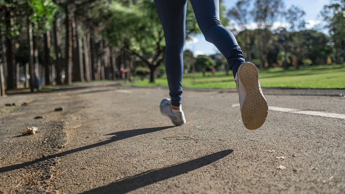
<instances>
[{"instance_id":1,"label":"slim greyish tree trunk directly below the bright green foliage, upper left","mask_svg":"<svg viewBox=\"0 0 345 194\"><path fill-rule=\"evenodd\" d=\"M34 54L33 54L33 37L32 37L32 23L28 19L28 41L29 41L29 74L30 74L30 89L31 92L34 92L34 74L33 74L33 66L34 66Z\"/></svg>"}]
</instances>

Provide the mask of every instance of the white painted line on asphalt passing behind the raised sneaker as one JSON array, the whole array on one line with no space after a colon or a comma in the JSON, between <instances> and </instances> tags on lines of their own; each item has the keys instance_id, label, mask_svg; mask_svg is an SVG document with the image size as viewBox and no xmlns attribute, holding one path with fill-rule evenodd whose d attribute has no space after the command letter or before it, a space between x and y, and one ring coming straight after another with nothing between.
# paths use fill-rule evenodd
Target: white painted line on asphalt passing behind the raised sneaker
<instances>
[{"instance_id":1,"label":"white painted line on asphalt passing behind the raised sneaker","mask_svg":"<svg viewBox=\"0 0 345 194\"><path fill-rule=\"evenodd\" d=\"M238 107L238 106L239 104L231 105L231 107ZM268 110L279 111L283 113L294 113L294 114L301 114L301 115L313 115L313 116L345 119L344 114L326 113L326 112L320 112L320 111L314 111L314 110L298 110L298 109L283 108L283 107L277 107L277 106L268 106Z\"/></svg>"}]
</instances>

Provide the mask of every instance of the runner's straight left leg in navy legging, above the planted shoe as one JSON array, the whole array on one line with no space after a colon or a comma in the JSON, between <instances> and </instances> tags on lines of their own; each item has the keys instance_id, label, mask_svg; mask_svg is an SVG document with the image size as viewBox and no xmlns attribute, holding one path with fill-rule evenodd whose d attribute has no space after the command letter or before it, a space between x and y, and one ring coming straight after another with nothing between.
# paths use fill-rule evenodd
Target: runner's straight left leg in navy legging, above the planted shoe
<instances>
[{"instance_id":1,"label":"runner's straight left leg in navy legging, above the planted shoe","mask_svg":"<svg viewBox=\"0 0 345 194\"><path fill-rule=\"evenodd\" d=\"M186 33L186 0L155 0L165 36L165 71L167 74L171 105L182 101L183 45Z\"/></svg>"}]
</instances>

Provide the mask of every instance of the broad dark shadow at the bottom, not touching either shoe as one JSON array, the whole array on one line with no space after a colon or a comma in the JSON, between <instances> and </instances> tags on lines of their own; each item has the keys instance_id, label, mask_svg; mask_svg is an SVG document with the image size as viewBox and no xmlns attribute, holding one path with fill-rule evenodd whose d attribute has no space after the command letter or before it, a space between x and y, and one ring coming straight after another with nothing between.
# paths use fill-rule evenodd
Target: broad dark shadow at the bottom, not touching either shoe
<instances>
[{"instance_id":1,"label":"broad dark shadow at the bottom, not touching either shoe","mask_svg":"<svg viewBox=\"0 0 345 194\"><path fill-rule=\"evenodd\" d=\"M232 149L220 151L217 153L213 153L210 155L206 155L188 162L184 162L181 164L176 164L172 166L168 166L165 168L160 168L152 171L147 171L144 173L137 174L135 176L131 176L128 178L121 179L114 183L110 183L109 185L94 188L90 191L84 192L85 194L90 193L102 193L102 194L123 194L137 188L144 187L146 185L150 185L152 183L156 183L158 181L163 181L168 178L178 176L180 174L184 174L188 171L193 171L195 169L201 168L206 166L210 163L213 163L233 152Z\"/></svg>"}]
</instances>

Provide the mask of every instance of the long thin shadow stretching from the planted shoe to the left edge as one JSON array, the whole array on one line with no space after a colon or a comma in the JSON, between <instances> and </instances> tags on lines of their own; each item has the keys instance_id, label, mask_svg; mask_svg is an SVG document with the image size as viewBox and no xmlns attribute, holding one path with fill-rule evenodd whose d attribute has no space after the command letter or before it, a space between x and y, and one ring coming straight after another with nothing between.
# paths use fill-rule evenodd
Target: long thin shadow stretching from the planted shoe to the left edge
<instances>
[{"instance_id":1,"label":"long thin shadow stretching from the planted shoe to the left edge","mask_svg":"<svg viewBox=\"0 0 345 194\"><path fill-rule=\"evenodd\" d=\"M87 145L87 146L83 146L83 147L78 147L78 148L71 149L71 150L68 150L68 151L65 151L65 152L61 152L61 153L53 154L53 155L50 155L50 156L46 156L44 158L38 158L38 159L35 159L34 161L25 162L25 163L22 163L22 164L14 164L14 165L11 165L11 166L4 166L4 167L0 168L0 173L8 172L8 171L13 171L15 169L23 168L23 167L29 166L31 164L35 164L35 163L38 163L38 162L46 161L46 160L48 160L50 158L66 156L68 154L80 152L80 151L83 151L83 150L86 150L86 149L90 149L90 148L94 148L94 147L110 144L110 143L116 142L118 140L134 137L134 136L137 136L137 135L152 133L152 132L156 132L156 131L160 131L160 130L168 129L168 128L172 128L172 127L175 127L175 126L145 128L145 129L133 129L133 130L126 130L126 131L120 131L120 132L108 134L108 135L115 135L115 136L112 136L108 140L105 140L103 142L98 142L96 144L91 144L91 145Z\"/></svg>"}]
</instances>

